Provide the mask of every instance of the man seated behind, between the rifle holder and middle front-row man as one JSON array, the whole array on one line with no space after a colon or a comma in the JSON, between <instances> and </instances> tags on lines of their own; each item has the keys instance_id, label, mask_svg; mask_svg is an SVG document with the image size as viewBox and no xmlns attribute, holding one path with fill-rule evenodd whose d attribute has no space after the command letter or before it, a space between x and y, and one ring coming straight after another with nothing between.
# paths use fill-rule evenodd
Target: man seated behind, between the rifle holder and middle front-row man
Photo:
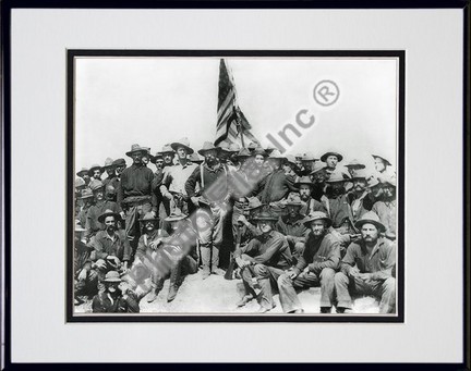
<instances>
[{"instance_id":1,"label":"man seated behind, between the rifle holder and middle front-row man","mask_svg":"<svg viewBox=\"0 0 471 371\"><path fill-rule=\"evenodd\" d=\"M303 203L298 194L291 193L286 200L287 213L281 215L275 224L275 230L287 237L291 255L298 261L304 250L304 243L309 230L303 223L304 215L301 214Z\"/></svg>"}]
</instances>

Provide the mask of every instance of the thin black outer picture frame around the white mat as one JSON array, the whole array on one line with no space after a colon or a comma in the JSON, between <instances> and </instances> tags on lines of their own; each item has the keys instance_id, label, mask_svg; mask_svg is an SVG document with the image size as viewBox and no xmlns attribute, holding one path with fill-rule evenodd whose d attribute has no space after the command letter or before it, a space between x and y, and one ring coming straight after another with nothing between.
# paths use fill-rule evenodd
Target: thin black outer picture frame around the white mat
<instances>
[{"instance_id":1,"label":"thin black outer picture frame around the white mat","mask_svg":"<svg viewBox=\"0 0 471 371\"><path fill-rule=\"evenodd\" d=\"M12 363L11 361L11 222L9 215L11 214L12 205L10 201L9 194L11 191L11 12L14 9L24 9L24 8L44 8L44 9L53 9L53 8L62 8L62 9L147 9L147 8L156 8L156 9L462 9L464 14L464 42L463 42L463 360L460 363L355 363L349 364L350 369L358 370L377 370L379 367L383 370L392 370L399 369L403 367L413 367L414 370L470 370L470 74L469 74L469 62L470 62L470 48L469 48L469 18L470 18L470 7L469 1L385 1L381 3L376 3L374 1L342 1L342 2L328 2L328 1L201 1L201 2L192 2L192 1L162 1L155 3L153 1L113 1L110 2L96 2L96 1L3 1L1 4L1 32L2 32L2 51L3 51L3 74L2 74L2 109L3 109L3 139L4 139L4 168L3 168L3 177L2 183L4 184L4 198L2 199L3 205L3 218L4 218L4 281L2 281L2 285L4 287L4 329L2 332L4 333L5 344L4 344L4 366L8 370L19 370L19 369L28 369L33 367L38 367L38 364L34 363ZM69 57L70 58L70 57ZM403 63L403 60L402 60ZM402 85L403 87L403 85ZM403 91L402 91L403 97ZM403 101L402 101L403 104ZM403 116L402 116L403 122ZM403 129L403 127L402 127ZM73 139L72 139L73 140ZM71 148L71 138L68 138L68 156L69 149ZM403 146L403 143L402 143ZM401 153L403 154L403 148L400 148ZM402 158L403 161L403 158ZM399 169L403 171L402 163L399 164ZM68 172L68 184L71 185L73 182L72 172ZM401 178L403 178L403 175ZM71 187L69 187L72 189ZM403 193L403 189L400 190ZM403 194L402 194L403 195ZM70 211L71 199L68 198L68 210ZM403 206L402 206L403 207ZM399 228L403 228L403 218L399 218L400 225ZM402 230L403 231L403 230ZM401 249L399 249L401 251ZM403 248L402 248L403 251ZM399 252L401 253L401 252ZM68 261L68 269L69 261ZM403 274L403 264L401 267ZM403 276L402 276L403 277ZM403 280L401 280L403 284ZM403 300L402 302L402 316L403 316ZM69 314L69 309L67 310ZM348 317L346 317L348 319ZM129 318L128 318L129 320ZM403 318L402 318L403 320ZM101 321L101 320L100 320ZM338 321L338 319L336 319ZM348 320L351 322L351 319ZM185 321L183 321L185 322ZM77 369L78 367L90 367L90 368L104 368L104 364L90 364L90 363L75 363L75 364L61 364L61 363L43 363L43 367L47 369L56 369L68 367L71 369ZM110 366L110 364L108 364ZM321 368L343 368L345 364L340 363L317 363L316 367ZM134 364L133 367L137 368L148 368L149 364ZM171 368L170 364L166 364L166 367ZM176 366L172 366L176 367ZM213 367L217 367L217 364L213 364ZM225 366L230 367L230 366ZM298 367L298 366L297 366ZM299 364L300 368L309 367L305 364Z\"/></svg>"}]
</instances>

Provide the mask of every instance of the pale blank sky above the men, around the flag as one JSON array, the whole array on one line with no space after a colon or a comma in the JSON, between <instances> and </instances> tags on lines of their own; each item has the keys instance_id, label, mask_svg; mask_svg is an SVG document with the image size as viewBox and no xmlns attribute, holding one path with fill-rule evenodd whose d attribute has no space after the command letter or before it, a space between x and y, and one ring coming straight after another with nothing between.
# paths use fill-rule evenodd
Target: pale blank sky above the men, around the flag
<instances>
[{"instance_id":1,"label":"pale blank sky above the men, around the flag","mask_svg":"<svg viewBox=\"0 0 471 371\"><path fill-rule=\"evenodd\" d=\"M321 157L334 149L372 164L379 152L396 163L396 59L226 59L238 100L265 147L301 109L315 116L301 137L291 134L289 153ZM152 153L181 137L192 148L216 139L219 58L78 58L75 90L75 169L125 156L132 144ZM326 108L314 86L334 81L338 101ZM295 125L297 126L297 125ZM153 170L154 166L152 166Z\"/></svg>"}]
</instances>

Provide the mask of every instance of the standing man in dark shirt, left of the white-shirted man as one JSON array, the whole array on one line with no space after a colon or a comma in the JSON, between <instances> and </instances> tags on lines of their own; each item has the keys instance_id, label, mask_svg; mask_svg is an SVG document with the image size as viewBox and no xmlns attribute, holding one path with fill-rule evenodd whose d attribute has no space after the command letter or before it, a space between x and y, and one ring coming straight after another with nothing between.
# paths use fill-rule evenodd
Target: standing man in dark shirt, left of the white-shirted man
<instances>
[{"instance_id":1,"label":"standing man in dark shirt, left of the white-shirted man","mask_svg":"<svg viewBox=\"0 0 471 371\"><path fill-rule=\"evenodd\" d=\"M138 219L149 211L156 213L153 206L152 182L154 173L142 162L143 156L148 156L147 149L140 145L132 145L126 156L133 159L133 164L121 173L118 187L118 205L125 210L125 234L133 251L137 247L141 228Z\"/></svg>"}]
</instances>

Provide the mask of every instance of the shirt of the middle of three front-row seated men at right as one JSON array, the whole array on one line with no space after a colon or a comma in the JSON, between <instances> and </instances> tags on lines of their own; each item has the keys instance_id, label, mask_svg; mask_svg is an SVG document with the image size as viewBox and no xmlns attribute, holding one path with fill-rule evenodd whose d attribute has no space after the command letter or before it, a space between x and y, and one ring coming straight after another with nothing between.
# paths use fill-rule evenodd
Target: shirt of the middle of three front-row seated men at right
<instances>
[{"instance_id":1,"label":"shirt of the middle of three front-row seated men at right","mask_svg":"<svg viewBox=\"0 0 471 371\"><path fill-rule=\"evenodd\" d=\"M303 255L294 267L295 273L301 273L307 265L311 272L321 274L324 268L338 269L340 262L340 243L330 233L315 237L309 234Z\"/></svg>"}]
</instances>

